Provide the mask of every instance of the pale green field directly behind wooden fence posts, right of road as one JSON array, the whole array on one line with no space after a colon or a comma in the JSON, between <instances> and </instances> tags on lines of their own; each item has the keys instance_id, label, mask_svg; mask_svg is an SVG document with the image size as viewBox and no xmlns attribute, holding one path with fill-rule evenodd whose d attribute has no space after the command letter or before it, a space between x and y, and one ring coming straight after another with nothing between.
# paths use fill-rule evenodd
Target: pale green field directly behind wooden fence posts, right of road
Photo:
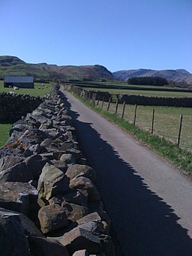
<instances>
[{"instance_id":1,"label":"pale green field directly behind wooden fence posts, right of road","mask_svg":"<svg viewBox=\"0 0 192 256\"><path fill-rule=\"evenodd\" d=\"M99 107L102 102L99 102ZM107 110L107 102L104 103ZM192 151L192 110L190 107L151 107L137 106L136 126L144 131L151 132L152 111L154 109L154 135L163 137L171 143L177 143L180 115L183 115L180 147ZM135 106L127 105L124 119L133 123ZM110 113L115 113L115 104L110 104ZM122 104L118 104L117 116L121 118Z\"/></svg>"}]
</instances>

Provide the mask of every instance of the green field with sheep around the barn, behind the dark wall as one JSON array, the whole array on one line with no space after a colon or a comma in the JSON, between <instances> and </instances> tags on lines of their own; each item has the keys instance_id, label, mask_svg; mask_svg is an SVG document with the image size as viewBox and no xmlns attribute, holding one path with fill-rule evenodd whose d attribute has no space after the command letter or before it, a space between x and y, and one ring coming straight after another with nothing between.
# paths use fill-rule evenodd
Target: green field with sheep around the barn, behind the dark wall
<instances>
[{"instance_id":1,"label":"green field with sheep around the barn, behind the dark wall","mask_svg":"<svg viewBox=\"0 0 192 256\"><path fill-rule=\"evenodd\" d=\"M42 83L34 83L34 89L19 89L14 90L13 88L4 88L3 81L0 80L0 93L1 92L15 92L18 94L27 94L31 96L43 96L43 95L49 95L51 88L51 83L44 83L42 86Z\"/></svg>"}]
</instances>

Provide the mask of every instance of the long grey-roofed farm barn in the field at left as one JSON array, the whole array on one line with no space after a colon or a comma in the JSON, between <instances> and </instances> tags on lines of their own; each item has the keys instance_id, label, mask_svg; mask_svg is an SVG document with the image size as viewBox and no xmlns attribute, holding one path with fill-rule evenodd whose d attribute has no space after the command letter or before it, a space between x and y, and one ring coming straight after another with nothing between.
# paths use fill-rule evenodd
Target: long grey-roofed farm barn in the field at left
<instances>
[{"instance_id":1,"label":"long grey-roofed farm barn in the field at left","mask_svg":"<svg viewBox=\"0 0 192 256\"><path fill-rule=\"evenodd\" d=\"M4 87L34 88L33 77L6 76L4 77Z\"/></svg>"}]
</instances>

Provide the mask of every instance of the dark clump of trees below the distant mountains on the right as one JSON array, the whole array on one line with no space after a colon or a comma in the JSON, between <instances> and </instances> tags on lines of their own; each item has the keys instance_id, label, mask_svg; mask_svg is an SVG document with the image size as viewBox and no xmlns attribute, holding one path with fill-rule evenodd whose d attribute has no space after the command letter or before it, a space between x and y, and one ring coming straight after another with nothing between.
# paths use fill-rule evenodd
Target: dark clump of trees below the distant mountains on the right
<instances>
[{"instance_id":1,"label":"dark clump of trees below the distant mountains on the right","mask_svg":"<svg viewBox=\"0 0 192 256\"><path fill-rule=\"evenodd\" d=\"M163 77L130 77L127 80L128 84L143 85L143 86L165 86L169 82Z\"/></svg>"}]
</instances>

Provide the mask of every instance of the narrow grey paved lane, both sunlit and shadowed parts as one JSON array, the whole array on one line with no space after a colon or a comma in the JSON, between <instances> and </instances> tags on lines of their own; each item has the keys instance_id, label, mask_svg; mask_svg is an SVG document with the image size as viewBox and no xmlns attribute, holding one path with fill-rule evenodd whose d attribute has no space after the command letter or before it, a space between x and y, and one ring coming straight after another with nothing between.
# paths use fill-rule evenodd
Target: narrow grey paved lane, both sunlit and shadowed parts
<instances>
[{"instance_id":1,"label":"narrow grey paved lane, both sunlit and shadowed parts","mask_svg":"<svg viewBox=\"0 0 192 256\"><path fill-rule=\"evenodd\" d=\"M190 180L76 98L66 97L122 255L192 255Z\"/></svg>"}]
</instances>

